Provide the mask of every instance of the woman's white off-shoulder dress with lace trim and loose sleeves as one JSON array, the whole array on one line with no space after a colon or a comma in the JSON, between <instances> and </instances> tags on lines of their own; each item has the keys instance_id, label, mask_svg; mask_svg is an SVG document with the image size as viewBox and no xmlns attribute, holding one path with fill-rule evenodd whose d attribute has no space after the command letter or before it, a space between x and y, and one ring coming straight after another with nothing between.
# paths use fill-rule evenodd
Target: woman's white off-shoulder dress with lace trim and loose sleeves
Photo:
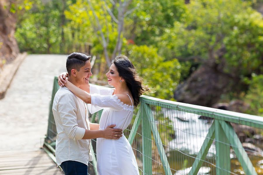
<instances>
[{"instance_id":1,"label":"woman's white off-shoulder dress with lace trim and loose sleeves","mask_svg":"<svg viewBox=\"0 0 263 175\"><path fill-rule=\"evenodd\" d=\"M101 109L100 130L115 124L114 128L126 129L131 122L134 106L123 104L111 88L90 86L90 113ZM128 95L127 95L128 96ZM97 170L100 175L139 175L138 165L129 141L124 134L118 140L97 138Z\"/></svg>"}]
</instances>

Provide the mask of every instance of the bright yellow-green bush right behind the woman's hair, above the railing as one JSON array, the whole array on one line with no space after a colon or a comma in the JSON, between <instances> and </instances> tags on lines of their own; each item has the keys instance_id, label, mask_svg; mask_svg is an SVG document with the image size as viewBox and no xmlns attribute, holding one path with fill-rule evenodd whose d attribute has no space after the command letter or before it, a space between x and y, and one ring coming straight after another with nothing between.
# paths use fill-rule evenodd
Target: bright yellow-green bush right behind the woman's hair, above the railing
<instances>
[{"instance_id":1,"label":"bright yellow-green bush right behind the woman's hair, above the railing","mask_svg":"<svg viewBox=\"0 0 263 175\"><path fill-rule=\"evenodd\" d=\"M146 45L127 47L131 61L138 73L146 79L146 83L156 92L153 97L173 99L173 90L180 79L180 64L177 59L165 61L157 54L157 48Z\"/></svg>"}]
</instances>

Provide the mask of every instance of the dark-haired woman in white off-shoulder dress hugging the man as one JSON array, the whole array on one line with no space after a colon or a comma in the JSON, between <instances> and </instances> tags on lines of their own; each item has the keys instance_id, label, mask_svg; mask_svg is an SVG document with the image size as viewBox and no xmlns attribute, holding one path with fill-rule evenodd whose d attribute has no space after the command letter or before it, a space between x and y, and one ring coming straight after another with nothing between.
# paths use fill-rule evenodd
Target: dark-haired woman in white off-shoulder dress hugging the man
<instances>
[{"instance_id":1,"label":"dark-haired woman in white off-shoulder dress hugging the man","mask_svg":"<svg viewBox=\"0 0 263 175\"><path fill-rule=\"evenodd\" d=\"M66 80L65 86L77 97L89 105L91 113L104 109L99 129L103 130L111 124L122 131L131 122L134 106L139 104L139 96L149 88L142 85L142 78L134 65L124 55L117 56L106 74L108 84L115 88L98 90L100 94L89 94ZM92 90L91 90L92 91ZM123 135L118 140L97 139L97 170L105 174L139 174L138 165L131 145Z\"/></svg>"}]
</instances>

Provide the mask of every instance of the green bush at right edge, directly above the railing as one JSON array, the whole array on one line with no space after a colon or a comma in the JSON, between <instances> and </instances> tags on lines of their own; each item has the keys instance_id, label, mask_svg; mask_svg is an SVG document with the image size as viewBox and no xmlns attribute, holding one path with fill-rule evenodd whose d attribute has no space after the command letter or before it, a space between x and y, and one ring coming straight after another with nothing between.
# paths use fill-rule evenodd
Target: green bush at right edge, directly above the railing
<instances>
[{"instance_id":1,"label":"green bush at right edge, directly above the railing","mask_svg":"<svg viewBox=\"0 0 263 175\"><path fill-rule=\"evenodd\" d=\"M263 75L252 74L252 79L246 79L249 89L244 101L250 104L248 113L263 116Z\"/></svg>"}]
</instances>

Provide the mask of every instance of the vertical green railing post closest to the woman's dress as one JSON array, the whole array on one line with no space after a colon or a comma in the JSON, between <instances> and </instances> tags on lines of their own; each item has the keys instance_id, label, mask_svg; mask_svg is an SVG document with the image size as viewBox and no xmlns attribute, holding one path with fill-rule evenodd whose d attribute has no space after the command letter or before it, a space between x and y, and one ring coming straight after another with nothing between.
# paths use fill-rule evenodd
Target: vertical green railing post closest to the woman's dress
<instances>
[{"instance_id":1,"label":"vertical green railing post closest to the woman's dress","mask_svg":"<svg viewBox=\"0 0 263 175\"><path fill-rule=\"evenodd\" d=\"M142 103L142 102L141 102ZM143 144L143 174L152 175L152 134L149 119L146 115L146 108L141 104L141 127L142 127L142 144Z\"/></svg>"}]
</instances>

